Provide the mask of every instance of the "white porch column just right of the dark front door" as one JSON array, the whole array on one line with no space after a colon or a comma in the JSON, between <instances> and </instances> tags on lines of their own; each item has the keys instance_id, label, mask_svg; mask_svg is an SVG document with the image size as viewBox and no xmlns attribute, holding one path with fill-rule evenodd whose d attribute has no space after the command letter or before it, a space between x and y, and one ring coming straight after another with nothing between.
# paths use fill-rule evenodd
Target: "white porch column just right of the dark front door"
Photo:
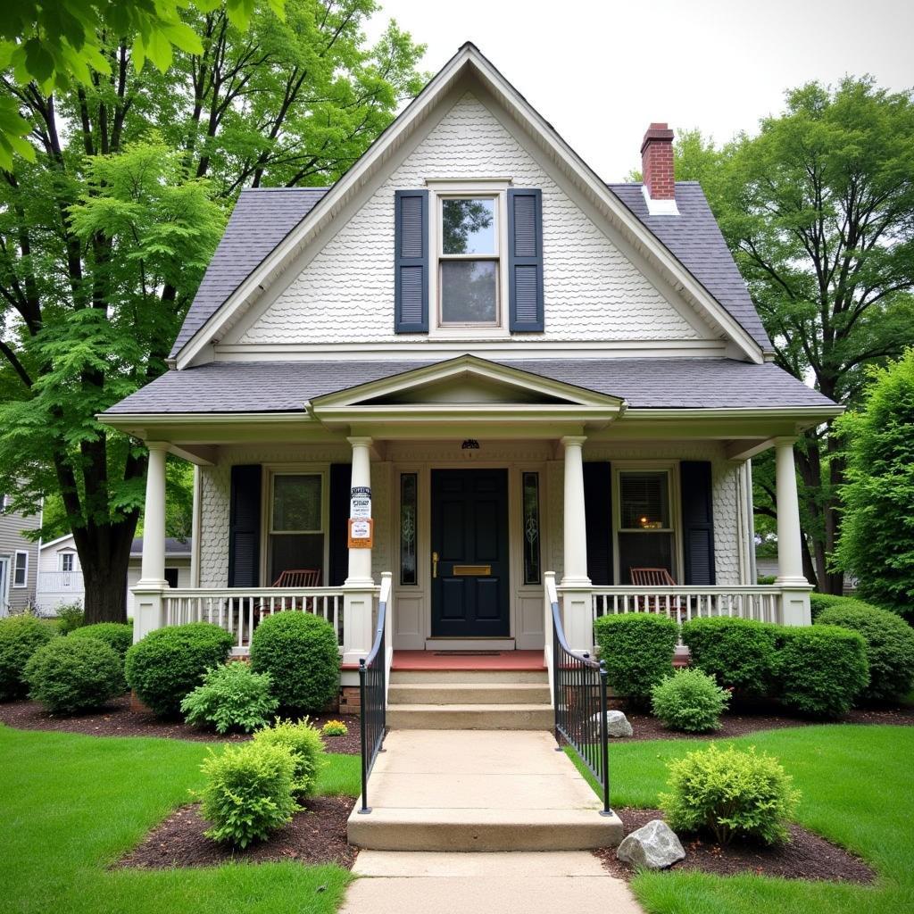
<instances>
[{"instance_id":1,"label":"white porch column just right of the dark front door","mask_svg":"<svg viewBox=\"0 0 914 914\"><path fill-rule=\"evenodd\" d=\"M587 522L584 505L583 435L566 435L565 526L562 575L562 622L569 646L575 651L593 650L593 611L587 574Z\"/></svg>"}]
</instances>

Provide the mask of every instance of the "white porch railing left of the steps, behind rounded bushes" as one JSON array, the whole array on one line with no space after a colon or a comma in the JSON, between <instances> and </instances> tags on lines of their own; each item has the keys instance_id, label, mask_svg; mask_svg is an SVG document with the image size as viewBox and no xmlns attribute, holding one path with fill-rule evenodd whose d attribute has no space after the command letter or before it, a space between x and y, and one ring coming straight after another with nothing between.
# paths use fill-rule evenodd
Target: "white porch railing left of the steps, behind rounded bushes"
<instances>
[{"instance_id":1,"label":"white porch railing left of the steps, behind rounded bushes","mask_svg":"<svg viewBox=\"0 0 914 914\"><path fill-rule=\"evenodd\" d=\"M261 619L290 610L312 612L330 622L337 643L344 643L342 588L172 588L162 591L162 602L165 625L212 622L232 633L235 650L241 653L250 648L250 636Z\"/></svg>"}]
</instances>

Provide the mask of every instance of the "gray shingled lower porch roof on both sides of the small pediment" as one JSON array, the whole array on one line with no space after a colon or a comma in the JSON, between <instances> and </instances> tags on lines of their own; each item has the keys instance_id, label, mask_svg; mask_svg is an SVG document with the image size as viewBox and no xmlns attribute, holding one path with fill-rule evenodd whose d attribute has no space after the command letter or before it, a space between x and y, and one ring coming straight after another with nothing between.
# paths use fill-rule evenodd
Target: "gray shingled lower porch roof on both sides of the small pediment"
<instances>
[{"instance_id":1,"label":"gray shingled lower porch roof on both sides of the small pediment","mask_svg":"<svg viewBox=\"0 0 914 914\"><path fill-rule=\"evenodd\" d=\"M214 362L166 372L107 414L301 411L305 400L432 364ZM501 364L622 397L634 409L834 405L771 363L755 365L728 358L576 358L501 360Z\"/></svg>"}]
</instances>

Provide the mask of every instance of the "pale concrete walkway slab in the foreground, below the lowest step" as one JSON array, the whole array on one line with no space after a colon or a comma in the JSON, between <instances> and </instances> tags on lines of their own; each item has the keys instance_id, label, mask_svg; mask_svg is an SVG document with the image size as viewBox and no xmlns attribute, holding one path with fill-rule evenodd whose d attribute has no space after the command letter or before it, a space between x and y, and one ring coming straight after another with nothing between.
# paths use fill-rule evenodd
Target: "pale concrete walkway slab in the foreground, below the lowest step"
<instances>
[{"instance_id":1,"label":"pale concrete walkway slab in the foreground, below the lowest step","mask_svg":"<svg viewBox=\"0 0 914 914\"><path fill-rule=\"evenodd\" d=\"M587 851L453 854L362 851L341 914L641 914Z\"/></svg>"}]
</instances>

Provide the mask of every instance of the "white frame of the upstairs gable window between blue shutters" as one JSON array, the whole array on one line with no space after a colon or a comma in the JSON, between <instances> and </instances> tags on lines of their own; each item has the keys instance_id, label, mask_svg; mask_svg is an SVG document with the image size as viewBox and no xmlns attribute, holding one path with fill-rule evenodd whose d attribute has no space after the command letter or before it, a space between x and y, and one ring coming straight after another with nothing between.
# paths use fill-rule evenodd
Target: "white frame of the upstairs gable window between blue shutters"
<instances>
[{"instance_id":1,"label":"white frame of the upstairs gable window between blue shutters","mask_svg":"<svg viewBox=\"0 0 914 914\"><path fill-rule=\"evenodd\" d=\"M429 265L429 303L431 320L430 337L484 337L509 336L507 319L508 302L508 218L507 191L510 178L432 179L426 180L429 187L429 250L432 262ZM442 201L485 197L495 200L495 253L492 254L444 254L441 232ZM495 321L484 324L444 323L441 315L441 262L443 260L494 260L496 264Z\"/></svg>"}]
</instances>

